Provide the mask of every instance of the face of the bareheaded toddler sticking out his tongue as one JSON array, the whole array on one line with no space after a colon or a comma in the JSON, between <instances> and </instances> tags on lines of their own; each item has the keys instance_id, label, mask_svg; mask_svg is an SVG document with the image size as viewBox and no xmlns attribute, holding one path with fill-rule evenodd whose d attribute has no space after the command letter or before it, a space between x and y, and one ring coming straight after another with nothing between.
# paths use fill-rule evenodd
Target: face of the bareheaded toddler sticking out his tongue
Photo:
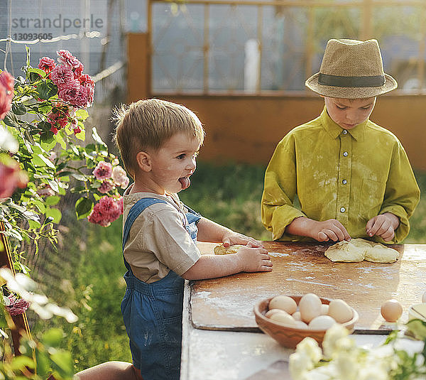
<instances>
[{"instance_id":1,"label":"face of the bareheaded toddler sticking out his tongue","mask_svg":"<svg viewBox=\"0 0 426 380\"><path fill-rule=\"evenodd\" d=\"M164 194L189 188L199 150L200 143L195 137L180 132L165 141L157 151L151 152L153 190Z\"/></svg>"}]
</instances>

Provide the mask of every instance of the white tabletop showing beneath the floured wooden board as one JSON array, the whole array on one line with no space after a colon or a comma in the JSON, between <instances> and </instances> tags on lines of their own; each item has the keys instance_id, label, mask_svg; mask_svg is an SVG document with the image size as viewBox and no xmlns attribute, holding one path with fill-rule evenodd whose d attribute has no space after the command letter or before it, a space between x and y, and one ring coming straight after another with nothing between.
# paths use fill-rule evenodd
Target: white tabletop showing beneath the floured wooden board
<instances>
[{"instance_id":1,"label":"white tabletop showing beneath the floured wooden board","mask_svg":"<svg viewBox=\"0 0 426 380\"><path fill-rule=\"evenodd\" d=\"M181 380L246 380L278 361L288 361L293 349L281 347L263 333L199 330L190 320L190 286L185 281L182 319ZM353 335L357 344L373 347L386 335ZM285 372L284 372L285 374ZM290 379L290 376L281 379ZM267 379L265 379L267 380Z\"/></svg>"}]
</instances>

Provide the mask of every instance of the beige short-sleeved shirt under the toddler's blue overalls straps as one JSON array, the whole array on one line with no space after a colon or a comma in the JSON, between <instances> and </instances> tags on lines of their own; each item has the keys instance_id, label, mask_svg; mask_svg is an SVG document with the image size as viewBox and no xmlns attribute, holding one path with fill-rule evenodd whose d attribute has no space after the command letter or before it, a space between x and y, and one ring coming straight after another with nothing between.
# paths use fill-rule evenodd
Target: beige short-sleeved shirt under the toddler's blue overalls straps
<instances>
[{"instance_id":1,"label":"beige short-sleeved shirt under the toddler's blue overalls straps","mask_svg":"<svg viewBox=\"0 0 426 380\"><path fill-rule=\"evenodd\" d=\"M165 200L147 207L136 218L124 246L124 257L139 280L153 283L168 275L170 269L181 276L198 259L200 251L185 229L185 207L177 194L124 192L123 223L131 207L143 197Z\"/></svg>"}]
</instances>

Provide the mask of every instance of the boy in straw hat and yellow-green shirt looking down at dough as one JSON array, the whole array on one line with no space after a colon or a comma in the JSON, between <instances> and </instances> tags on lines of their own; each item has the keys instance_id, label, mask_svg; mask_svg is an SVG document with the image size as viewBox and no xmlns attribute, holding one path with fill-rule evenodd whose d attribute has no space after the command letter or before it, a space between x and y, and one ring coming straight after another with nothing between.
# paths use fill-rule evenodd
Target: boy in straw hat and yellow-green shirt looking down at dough
<instances>
[{"instance_id":1,"label":"boy in straw hat and yellow-green shirt looking down at dough","mask_svg":"<svg viewBox=\"0 0 426 380\"><path fill-rule=\"evenodd\" d=\"M368 119L376 96L397 87L377 41L329 40L320 72L305 84L325 107L278 143L266 169L263 224L274 240L399 243L420 190L400 141Z\"/></svg>"}]
</instances>

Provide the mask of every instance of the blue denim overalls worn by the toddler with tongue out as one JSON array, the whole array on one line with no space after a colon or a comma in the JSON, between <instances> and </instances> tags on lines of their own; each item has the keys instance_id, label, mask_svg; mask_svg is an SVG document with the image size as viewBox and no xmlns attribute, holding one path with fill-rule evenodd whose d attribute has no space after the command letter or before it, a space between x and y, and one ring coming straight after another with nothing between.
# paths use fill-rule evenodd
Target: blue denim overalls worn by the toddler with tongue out
<instances>
[{"instance_id":1,"label":"blue denim overalls worn by the toddler with tongue out","mask_svg":"<svg viewBox=\"0 0 426 380\"><path fill-rule=\"evenodd\" d=\"M131 207L124 223L123 251L131 225L146 207L154 203L167 202L146 197ZM196 223L201 217L190 210L186 218L185 229L197 241ZM124 265L127 268L124 275L127 288L121 302L121 313L130 339L133 366L141 369L143 380L178 380L185 280L170 270L161 280L144 283L133 275L126 259Z\"/></svg>"}]
</instances>

